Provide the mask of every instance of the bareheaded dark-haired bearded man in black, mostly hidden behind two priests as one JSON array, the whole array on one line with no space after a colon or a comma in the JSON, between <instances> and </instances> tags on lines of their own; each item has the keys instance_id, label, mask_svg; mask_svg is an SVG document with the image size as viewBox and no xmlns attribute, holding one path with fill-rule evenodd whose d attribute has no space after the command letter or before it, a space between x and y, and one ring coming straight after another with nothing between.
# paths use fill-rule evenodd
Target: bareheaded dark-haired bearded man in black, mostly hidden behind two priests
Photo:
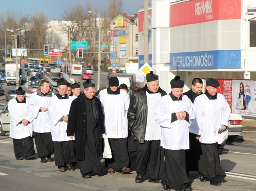
<instances>
[{"instance_id":1,"label":"bareheaded dark-haired bearded man in black, mostly hidden behind two priests","mask_svg":"<svg viewBox=\"0 0 256 191\"><path fill-rule=\"evenodd\" d=\"M191 89L184 95L188 96L192 103L197 96L202 95L203 81L200 78L194 78L192 81ZM186 150L186 172L187 175L189 171L198 171L198 161L200 159L201 145L196 139L196 134L189 133L189 150ZM202 181L202 180L201 180Z\"/></svg>"}]
</instances>

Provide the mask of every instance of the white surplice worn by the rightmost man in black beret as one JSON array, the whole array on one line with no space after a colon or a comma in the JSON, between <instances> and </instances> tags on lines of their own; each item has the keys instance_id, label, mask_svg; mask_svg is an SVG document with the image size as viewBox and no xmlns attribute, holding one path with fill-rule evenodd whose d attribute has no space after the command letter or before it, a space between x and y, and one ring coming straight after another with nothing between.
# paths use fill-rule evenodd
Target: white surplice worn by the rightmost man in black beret
<instances>
[{"instance_id":1,"label":"white surplice worn by the rightmost man in black beret","mask_svg":"<svg viewBox=\"0 0 256 191\"><path fill-rule=\"evenodd\" d=\"M190 126L190 132L200 135L204 144L217 142L218 130L222 125L228 126L230 107L222 94L217 99L209 99L205 94L197 96L193 104L196 121Z\"/></svg>"}]
</instances>

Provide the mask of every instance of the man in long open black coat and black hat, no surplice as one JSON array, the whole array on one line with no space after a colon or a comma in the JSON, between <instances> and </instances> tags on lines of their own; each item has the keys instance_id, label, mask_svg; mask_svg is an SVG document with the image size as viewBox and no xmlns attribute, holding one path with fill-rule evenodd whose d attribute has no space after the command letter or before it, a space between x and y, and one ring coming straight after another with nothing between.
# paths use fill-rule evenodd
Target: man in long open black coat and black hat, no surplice
<instances>
[{"instance_id":1,"label":"man in long open black coat and black hat, no surplice","mask_svg":"<svg viewBox=\"0 0 256 191\"><path fill-rule=\"evenodd\" d=\"M75 136L76 159L82 178L91 178L92 171L101 172L104 115L100 100L94 96L95 84L87 80L83 85L84 93L70 106L67 136Z\"/></svg>"}]
</instances>

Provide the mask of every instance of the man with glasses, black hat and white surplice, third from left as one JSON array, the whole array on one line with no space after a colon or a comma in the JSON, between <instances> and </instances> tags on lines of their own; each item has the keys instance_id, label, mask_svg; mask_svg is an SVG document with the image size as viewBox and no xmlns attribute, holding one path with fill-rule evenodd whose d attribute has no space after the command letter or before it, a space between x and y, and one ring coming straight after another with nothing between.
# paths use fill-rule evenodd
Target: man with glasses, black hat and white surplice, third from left
<instances>
[{"instance_id":1,"label":"man with glasses, black hat and white surplice, third from left","mask_svg":"<svg viewBox=\"0 0 256 191\"><path fill-rule=\"evenodd\" d=\"M74 171L73 163L76 162L75 143L67 136L68 113L74 98L67 95L67 83L61 78L57 81L58 94L52 96L48 104L48 115L54 126L51 128L54 146L55 165L60 172Z\"/></svg>"}]
</instances>

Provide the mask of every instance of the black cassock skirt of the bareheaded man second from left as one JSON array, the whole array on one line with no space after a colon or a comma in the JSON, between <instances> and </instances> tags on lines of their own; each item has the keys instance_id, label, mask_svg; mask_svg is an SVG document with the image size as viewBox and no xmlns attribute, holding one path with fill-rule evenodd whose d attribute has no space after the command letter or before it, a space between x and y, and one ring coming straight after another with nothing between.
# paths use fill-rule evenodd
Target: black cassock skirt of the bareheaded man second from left
<instances>
[{"instance_id":1,"label":"black cassock skirt of the bareheaded man second from left","mask_svg":"<svg viewBox=\"0 0 256 191\"><path fill-rule=\"evenodd\" d=\"M39 158L47 157L53 154L53 142L51 133L34 132L34 138Z\"/></svg>"}]
</instances>

